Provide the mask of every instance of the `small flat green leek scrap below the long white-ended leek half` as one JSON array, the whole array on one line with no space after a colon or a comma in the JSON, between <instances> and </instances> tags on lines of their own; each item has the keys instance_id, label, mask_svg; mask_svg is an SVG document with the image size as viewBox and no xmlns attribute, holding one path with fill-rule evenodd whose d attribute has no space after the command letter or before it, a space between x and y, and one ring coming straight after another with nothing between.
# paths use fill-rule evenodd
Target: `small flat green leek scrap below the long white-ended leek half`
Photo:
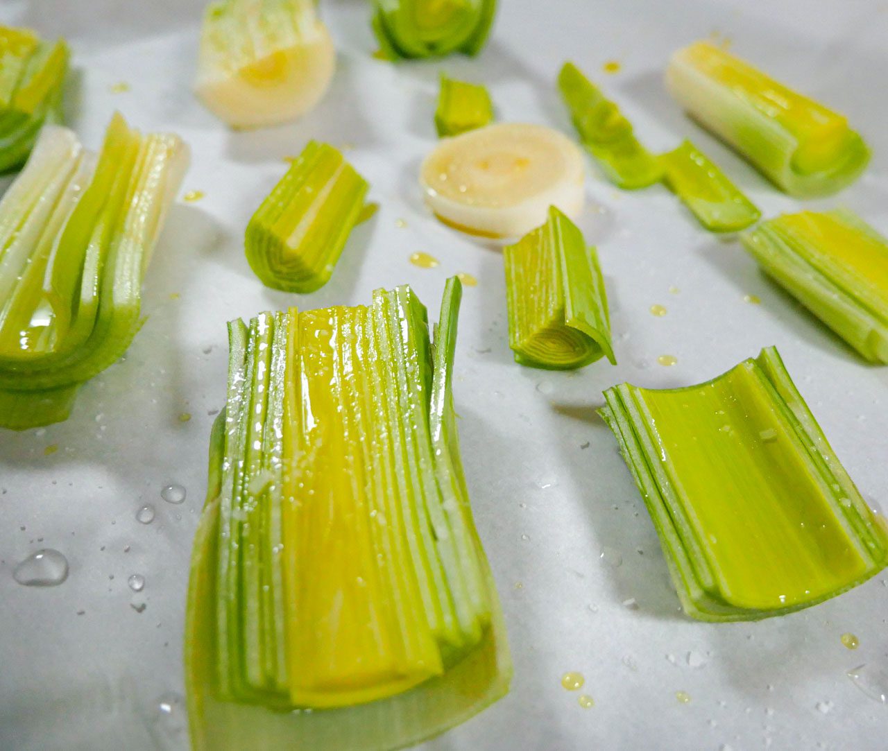
<instances>
[{"instance_id":1,"label":"small flat green leek scrap below the long white-ended leek half","mask_svg":"<svg viewBox=\"0 0 888 751\"><path fill-rule=\"evenodd\" d=\"M710 232L737 232L761 217L755 205L690 141L662 154L660 163L666 185Z\"/></svg>"}]
</instances>

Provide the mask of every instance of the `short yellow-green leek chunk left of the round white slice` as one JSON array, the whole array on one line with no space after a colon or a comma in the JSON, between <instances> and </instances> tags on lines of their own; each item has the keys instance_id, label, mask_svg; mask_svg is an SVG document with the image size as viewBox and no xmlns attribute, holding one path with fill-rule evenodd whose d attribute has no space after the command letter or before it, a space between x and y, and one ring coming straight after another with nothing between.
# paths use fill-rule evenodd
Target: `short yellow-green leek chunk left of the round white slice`
<instances>
[{"instance_id":1,"label":"short yellow-green leek chunk left of the round white slice","mask_svg":"<svg viewBox=\"0 0 888 751\"><path fill-rule=\"evenodd\" d=\"M250 268L274 289L321 288L362 221L368 188L337 149L310 141L247 225Z\"/></svg>"}]
</instances>

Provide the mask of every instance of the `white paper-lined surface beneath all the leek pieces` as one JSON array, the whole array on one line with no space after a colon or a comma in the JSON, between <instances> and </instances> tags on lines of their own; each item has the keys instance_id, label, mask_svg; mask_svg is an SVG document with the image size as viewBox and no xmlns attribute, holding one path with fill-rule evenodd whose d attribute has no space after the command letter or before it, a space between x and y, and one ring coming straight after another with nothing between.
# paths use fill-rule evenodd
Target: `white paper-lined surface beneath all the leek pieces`
<instances>
[{"instance_id":1,"label":"white paper-lined surface beneath all the leek pieces","mask_svg":"<svg viewBox=\"0 0 888 751\"><path fill-rule=\"evenodd\" d=\"M115 109L141 128L174 130L193 151L183 192L205 193L170 213L147 274L148 320L125 359L83 388L67 423L0 433L0 748L186 747L184 598L211 413L225 399L226 320L288 304L363 303L372 289L403 282L434 315L457 272L479 279L464 294L456 407L515 678L506 699L425 748L884 748L888 708L845 673L888 665L888 580L760 623L687 619L594 408L613 383L697 383L776 344L852 478L884 506L886 371L861 363L737 242L703 232L662 187L618 192L591 163L583 227L599 245L620 364L570 374L519 368L507 346L498 252L429 217L416 170L435 141L441 69L487 83L502 120L572 133L553 79L574 59L648 146L694 138L765 216L843 204L888 232L888 4L509 0L478 59L393 66L370 56L368 4L331 0L322 6L339 59L326 99L299 123L245 133L226 130L192 95L201 5L0 4L4 23L67 36L70 123L86 144L99 145ZM875 153L866 175L835 199L801 204L688 122L662 88L662 69L670 51L711 34L850 115ZM620 73L601 72L609 59ZM130 91L113 93L119 82ZM289 296L250 273L242 233L285 169L282 157L312 137L351 147L381 209L355 230L325 288ZM410 265L416 250L440 266ZM761 304L744 302L747 294ZM667 314L654 317L652 304ZM661 354L678 364L663 368ZM183 413L191 419L181 422ZM45 455L47 447L58 450ZM181 505L161 498L169 483L186 487ZM144 525L136 514L146 504L155 518ZM65 554L67 581L15 583L15 563L44 547ZM138 594L127 586L133 573L146 579ZM859 649L841 644L844 632L859 637ZM585 676L593 708L561 687L568 670ZM680 703L678 691L691 701Z\"/></svg>"}]
</instances>

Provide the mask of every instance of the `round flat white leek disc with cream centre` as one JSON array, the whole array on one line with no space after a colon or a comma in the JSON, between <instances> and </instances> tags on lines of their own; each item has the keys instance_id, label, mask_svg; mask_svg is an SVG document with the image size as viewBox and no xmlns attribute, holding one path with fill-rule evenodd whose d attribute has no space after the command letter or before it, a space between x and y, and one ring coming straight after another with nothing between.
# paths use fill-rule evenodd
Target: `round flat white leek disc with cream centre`
<instances>
[{"instance_id":1,"label":"round flat white leek disc with cream centre","mask_svg":"<svg viewBox=\"0 0 888 751\"><path fill-rule=\"evenodd\" d=\"M583 154L557 130L496 123L446 138L420 169L425 201L445 224L515 238L549 207L577 217L585 202Z\"/></svg>"}]
</instances>

